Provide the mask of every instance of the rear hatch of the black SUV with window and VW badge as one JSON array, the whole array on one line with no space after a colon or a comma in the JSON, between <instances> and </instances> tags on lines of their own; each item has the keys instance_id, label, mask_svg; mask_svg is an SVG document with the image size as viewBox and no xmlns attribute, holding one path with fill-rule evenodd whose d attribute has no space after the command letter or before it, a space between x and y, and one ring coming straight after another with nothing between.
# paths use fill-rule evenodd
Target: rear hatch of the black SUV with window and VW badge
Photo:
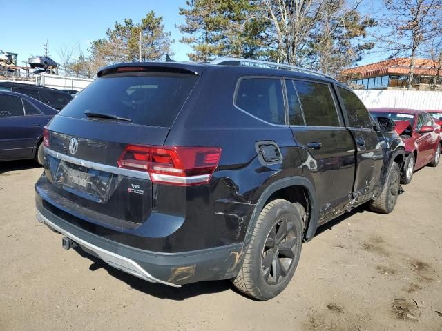
<instances>
[{"instance_id":1,"label":"rear hatch of the black SUV with window and VW badge","mask_svg":"<svg viewBox=\"0 0 442 331\"><path fill-rule=\"evenodd\" d=\"M119 159L128 146L162 146L197 81L196 72L163 67L101 74L45 132L48 200L99 223L131 228L145 221L152 211L148 172L119 168Z\"/></svg>"}]
</instances>

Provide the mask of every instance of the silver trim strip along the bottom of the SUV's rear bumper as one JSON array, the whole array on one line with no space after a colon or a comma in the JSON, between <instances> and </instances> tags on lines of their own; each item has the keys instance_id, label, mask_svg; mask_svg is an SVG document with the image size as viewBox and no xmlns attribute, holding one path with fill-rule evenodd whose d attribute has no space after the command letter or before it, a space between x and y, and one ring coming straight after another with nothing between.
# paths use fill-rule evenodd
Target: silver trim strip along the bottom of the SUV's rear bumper
<instances>
[{"instance_id":1,"label":"silver trim strip along the bottom of the SUV's rear bumper","mask_svg":"<svg viewBox=\"0 0 442 331\"><path fill-rule=\"evenodd\" d=\"M156 279L151 274L149 274L146 270L144 270L138 263L135 261L128 259L127 257L123 257L122 255L115 254L114 252L109 252L108 250L104 250L103 248L99 248L98 246L93 245L92 243L88 243L87 241L84 241L83 239L80 239L79 237L76 237L73 234L70 234L70 232L67 232L66 230L63 230L58 225L55 225L51 221L49 221L46 217L41 214L37 210L37 221L40 223L44 223L50 228L53 228L57 232L60 232L61 234L64 234L64 236L68 237L69 239L75 241L80 246L84 246L88 250L92 250L97 254L97 256L102 259L104 262L108 263L108 265L111 265L114 268L117 268L119 270L122 270L124 272L127 272L128 274L133 274L134 276L144 279L146 281L150 281L151 283L162 283L164 285L173 286L174 288L180 288L181 285L176 285L173 283L168 283L166 281L162 281L160 279Z\"/></svg>"}]
</instances>

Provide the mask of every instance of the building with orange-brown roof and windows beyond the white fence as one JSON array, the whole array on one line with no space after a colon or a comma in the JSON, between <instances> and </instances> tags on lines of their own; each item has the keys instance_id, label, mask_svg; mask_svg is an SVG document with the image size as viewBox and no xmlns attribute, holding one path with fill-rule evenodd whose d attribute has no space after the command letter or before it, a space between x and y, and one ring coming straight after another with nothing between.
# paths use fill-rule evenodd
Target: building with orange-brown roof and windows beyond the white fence
<instances>
[{"instance_id":1,"label":"building with orange-brown roof and windows beyond the white fence","mask_svg":"<svg viewBox=\"0 0 442 331\"><path fill-rule=\"evenodd\" d=\"M414 62L412 87L442 90L442 63L429 59L415 59ZM407 88L409 71L410 59L397 58L343 70L342 78L365 90ZM435 87L434 77L437 77Z\"/></svg>"}]
</instances>

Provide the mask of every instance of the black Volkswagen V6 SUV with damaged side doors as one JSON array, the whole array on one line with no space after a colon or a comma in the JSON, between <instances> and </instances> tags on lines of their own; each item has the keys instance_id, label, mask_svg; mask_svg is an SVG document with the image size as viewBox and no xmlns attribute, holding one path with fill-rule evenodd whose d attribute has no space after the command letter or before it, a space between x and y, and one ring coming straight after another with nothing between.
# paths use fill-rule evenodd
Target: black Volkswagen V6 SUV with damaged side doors
<instances>
[{"instance_id":1,"label":"black Volkswagen V6 SUV with damaged side doors","mask_svg":"<svg viewBox=\"0 0 442 331\"><path fill-rule=\"evenodd\" d=\"M387 119L388 121L388 119ZM276 63L122 63L52 119L37 219L109 265L180 286L289 283L318 225L391 212L404 148L346 86Z\"/></svg>"}]
</instances>

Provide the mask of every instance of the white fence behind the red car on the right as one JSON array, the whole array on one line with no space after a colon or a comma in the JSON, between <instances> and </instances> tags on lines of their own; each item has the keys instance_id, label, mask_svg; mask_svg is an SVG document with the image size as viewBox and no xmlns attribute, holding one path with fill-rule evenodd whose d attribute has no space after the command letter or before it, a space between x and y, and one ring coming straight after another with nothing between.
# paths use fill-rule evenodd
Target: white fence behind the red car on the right
<instances>
[{"instance_id":1,"label":"white fence behind the red car on the right","mask_svg":"<svg viewBox=\"0 0 442 331\"><path fill-rule=\"evenodd\" d=\"M354 90L367 108L442 110L441 91Z\"/></svg>"}]
</instances>

